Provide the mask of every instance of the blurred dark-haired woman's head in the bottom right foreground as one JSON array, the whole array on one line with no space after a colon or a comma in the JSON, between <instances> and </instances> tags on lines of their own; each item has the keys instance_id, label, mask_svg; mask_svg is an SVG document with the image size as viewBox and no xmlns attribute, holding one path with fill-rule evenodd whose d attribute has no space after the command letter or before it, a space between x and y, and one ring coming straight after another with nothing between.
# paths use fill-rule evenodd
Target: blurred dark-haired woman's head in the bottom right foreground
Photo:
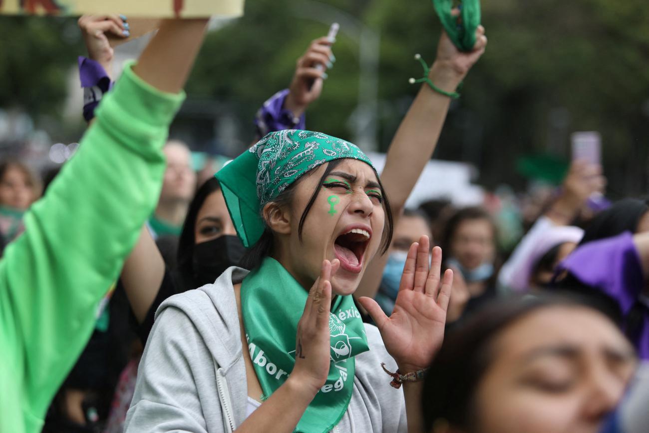
<instances>
[{"instance_id":1,"label":"blurred dark-haired woman's head in the bottom right foreground","mask_svg":"<svg viewBox=\"0 0 649 433\"><path fill-rule=\"evenodd\" d=\"M498 303L449 334L435 356L422 392L425 431L597 432L637 365L594 304Z\"/></svg>"}]
</instances>

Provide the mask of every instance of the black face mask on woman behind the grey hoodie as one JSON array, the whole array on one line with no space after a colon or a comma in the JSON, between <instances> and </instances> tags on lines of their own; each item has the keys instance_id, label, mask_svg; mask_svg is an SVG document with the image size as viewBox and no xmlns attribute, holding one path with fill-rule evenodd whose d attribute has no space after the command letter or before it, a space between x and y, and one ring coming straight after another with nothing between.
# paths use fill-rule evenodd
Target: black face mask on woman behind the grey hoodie
<instances>
[{"instance_id":1,"label":"black face mask on woman behind the grey hoodie","mask_svg":"<svg viewBox=\"0 0 649 433\"><path fill-rule=\"evenodd\" d=\"M230 266L238 266L246 249L237 236L224 234L194 245L193 277L197 287L212 284Z\"/></svg>"}]
</instances>

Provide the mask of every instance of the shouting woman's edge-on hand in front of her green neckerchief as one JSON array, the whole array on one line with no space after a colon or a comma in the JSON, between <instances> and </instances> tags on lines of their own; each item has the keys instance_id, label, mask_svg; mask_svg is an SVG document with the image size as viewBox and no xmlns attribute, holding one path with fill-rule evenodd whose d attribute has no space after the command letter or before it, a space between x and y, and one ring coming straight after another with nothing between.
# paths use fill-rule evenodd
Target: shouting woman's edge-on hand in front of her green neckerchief
<instances>
[{"instance_id":1,"label":"shouting woman's edge-on hand in front of her green neckerchief","mask_svg":"<svg viewBox=\"0 0 649 433\"><path fill-rule=\"evenodd\" d=\"M315 280L297 323L295 366L292 378L302 386L311 386L313 395L322 388L329 374L331 344L329 315L331 310L331 277L340 262L324 260L320 277Z\"/></svg>"}]
</instances>

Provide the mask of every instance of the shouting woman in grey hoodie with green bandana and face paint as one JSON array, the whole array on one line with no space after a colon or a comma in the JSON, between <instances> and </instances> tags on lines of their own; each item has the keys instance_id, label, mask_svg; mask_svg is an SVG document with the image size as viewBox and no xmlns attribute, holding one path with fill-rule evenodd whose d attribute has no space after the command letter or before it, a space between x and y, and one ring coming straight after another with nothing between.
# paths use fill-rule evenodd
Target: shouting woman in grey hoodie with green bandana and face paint
<instances>
[{"instance_id":1,"label":"shouting woman in grey hoodie with green bandana and face paint","mask_svg":"<svg viewBox=\"0 0 649 433\"><path fill-rule=\"evenodd\" d=\"M422 237L393 314L363 297L378 329L363 325L350 295L392 235L367 156L319 132L274 132L217 179L251 271L162 304L126 431L417 431L417 380L443 338L452 272L440 275L439 248L429 271Z\"/></svg>"}]
</instances>

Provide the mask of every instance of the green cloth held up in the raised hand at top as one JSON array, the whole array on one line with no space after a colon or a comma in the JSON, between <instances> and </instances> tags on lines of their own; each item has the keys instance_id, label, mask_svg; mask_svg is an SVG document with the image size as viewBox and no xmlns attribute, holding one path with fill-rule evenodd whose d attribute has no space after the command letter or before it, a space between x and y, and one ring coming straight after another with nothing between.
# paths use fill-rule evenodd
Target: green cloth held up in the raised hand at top
<instances>
[{"instance_id":1,"label":"green cloth held up in the raised hand at top","mask_svg":"<svg viewBox=\"0 0 649 433\"><path fill-rule=\"evenodd\" d=\"M453 0L433 0L435 12L439 16L448 37L460 51L472 51L476 44L476 29L480 25L480 0L463 0L461 2L461 25L458 18L451 15Z\"/></svg>"}]
</instances>

